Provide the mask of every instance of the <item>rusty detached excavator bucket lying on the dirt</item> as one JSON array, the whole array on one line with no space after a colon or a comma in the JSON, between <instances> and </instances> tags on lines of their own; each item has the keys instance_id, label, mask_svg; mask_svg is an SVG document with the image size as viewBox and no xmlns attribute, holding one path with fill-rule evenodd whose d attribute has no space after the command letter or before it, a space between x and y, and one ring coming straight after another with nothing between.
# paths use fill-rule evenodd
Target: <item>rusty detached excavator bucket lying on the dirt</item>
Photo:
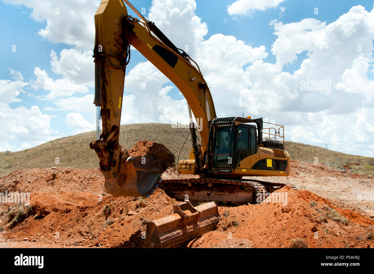
<instances>
[{"instance_id":1,"label":"rusty detached excavator bucket lying on the dirt","mask_svg":"<svg viewBox=\"0 0 374 274\"><path fill-rule=\"evenodd\" d=\"M147 223L145 248L181 247L191 239L216 229L220 220L215 202L193 207L186 200L173 204L174 213Z\"/></svg>"}]
</instances>

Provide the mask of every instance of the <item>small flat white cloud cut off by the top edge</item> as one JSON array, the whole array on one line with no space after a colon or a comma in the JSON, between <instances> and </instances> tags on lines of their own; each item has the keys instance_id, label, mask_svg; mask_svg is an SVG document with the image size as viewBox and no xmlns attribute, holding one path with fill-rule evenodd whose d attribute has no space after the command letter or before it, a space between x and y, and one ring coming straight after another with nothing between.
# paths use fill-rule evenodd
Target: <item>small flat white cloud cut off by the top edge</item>
<instances>
[{"instance_id":1,"label":"small flat white cloud cut off by the top edge","mask_svg":"<svg viewBox=\"0 0 374 274\"><path fill-rule=\"evenodd\" d=\"M229 15L248 15L254 10L266 10L278 7L285 0L237 0L227 6Z\"/></svg>"}]
</instances>

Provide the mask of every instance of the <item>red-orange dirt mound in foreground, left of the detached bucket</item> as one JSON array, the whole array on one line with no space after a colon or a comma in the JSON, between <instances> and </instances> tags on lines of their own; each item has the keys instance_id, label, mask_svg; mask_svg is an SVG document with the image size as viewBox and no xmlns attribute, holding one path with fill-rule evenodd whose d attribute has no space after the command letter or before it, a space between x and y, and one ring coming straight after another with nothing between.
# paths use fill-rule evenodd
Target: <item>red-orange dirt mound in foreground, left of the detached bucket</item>
<instances>
[{"instance_id":1,"label":"red-orange dirt mound in foreground, left of the detached bucket","mask_svg":"<svg viewBox=\"0 0 374 274\"><path fill-rule=\"evenodd\" d=\"M41 191L31 205L1 204L1 238L49 247L141 247L148 221L172 212L162 190L147 199L80 191ZM14 224L18 212L27 212ZM13 224L13 225L11 225Z\"/></svg>"}]
</instances>

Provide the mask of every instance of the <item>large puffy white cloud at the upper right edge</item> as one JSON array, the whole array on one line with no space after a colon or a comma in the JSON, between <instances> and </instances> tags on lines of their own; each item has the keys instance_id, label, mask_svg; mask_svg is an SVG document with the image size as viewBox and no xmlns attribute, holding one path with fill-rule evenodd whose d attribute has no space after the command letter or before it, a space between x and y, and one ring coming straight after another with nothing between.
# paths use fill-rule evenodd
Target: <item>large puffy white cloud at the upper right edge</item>
<instances>
[{"instance_id":1,"label":"large puffy white cloud at the upper right edge","mask_svg":"<svg viewBox=\"0 0 374 274\"><path fill-rule=\"evenodd\" d=\"M329 25L314 18L289 24L273 21L270 25L278 36L272 53L282 65L293 62L296 54L306 51L312 61L321 58L321 63L329 65L331 70L347 68L353 59L369 58L373 52L374 11L368 12L362 6L352 7Z\"/></svg>"}]
</instances>

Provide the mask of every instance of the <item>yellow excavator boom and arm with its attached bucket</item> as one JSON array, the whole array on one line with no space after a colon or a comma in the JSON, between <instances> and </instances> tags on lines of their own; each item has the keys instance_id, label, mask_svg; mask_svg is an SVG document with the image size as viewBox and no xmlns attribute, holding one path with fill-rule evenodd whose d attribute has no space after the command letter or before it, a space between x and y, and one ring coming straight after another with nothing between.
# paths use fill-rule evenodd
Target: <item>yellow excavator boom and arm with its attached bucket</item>
<instances>
[{"instance_id":1,"label":"yellow excavator boom and arm with its attached bucket","mask_svg":"<svg viewBox=\"0 0 374 274\"><path fill-rule=\"evenodd\" d=\"M124 1L134 9L127 0ZM149 196L165 171L153 158L147 157L144 163L140 156L130 157L128 151L119 145L122 108L126 112L127 107L122 105L123 86L131 45L168 77L186 98L189 110L201 123L199 134L203 149L208 145L211 121L216 118L211 93L198 65L193 65L191 62L194 61L178 50L152 22L141 18L144 22L129 16L125 5L116 0L102 0L95 14L93 103L97 108L98 129L96 140L90 143L90 147L99 157L105 187L113 196ZM195 130L191 133L195 134ZM202 155L196 141L193 148L195 160L200 162Z\"/></svg>"}]
</instances>

